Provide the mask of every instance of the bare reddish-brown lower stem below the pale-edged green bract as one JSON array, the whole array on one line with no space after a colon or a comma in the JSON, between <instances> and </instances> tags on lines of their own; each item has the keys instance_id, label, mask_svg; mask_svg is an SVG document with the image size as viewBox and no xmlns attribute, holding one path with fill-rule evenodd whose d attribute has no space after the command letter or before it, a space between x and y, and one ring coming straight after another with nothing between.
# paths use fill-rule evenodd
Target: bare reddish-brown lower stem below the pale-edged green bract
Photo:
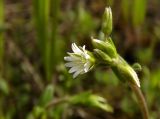
<instances>
[{"instance_id":1,"label":"bare reddish-brown lower stem below the pale-edged green bract","mask_svg":"<svg viewBox=\"0 0 160 119\"><path fill-rule=\"evenodd\" d=\"M143 119L149 119L149 112L148 112L147 104L146 104L145 98L142 94L142 91L140 90L140 88L137 85L135 85L133 83L129 83L129 86L136 94L141 112L143 114Z\"/></svg>"}]
</instances>

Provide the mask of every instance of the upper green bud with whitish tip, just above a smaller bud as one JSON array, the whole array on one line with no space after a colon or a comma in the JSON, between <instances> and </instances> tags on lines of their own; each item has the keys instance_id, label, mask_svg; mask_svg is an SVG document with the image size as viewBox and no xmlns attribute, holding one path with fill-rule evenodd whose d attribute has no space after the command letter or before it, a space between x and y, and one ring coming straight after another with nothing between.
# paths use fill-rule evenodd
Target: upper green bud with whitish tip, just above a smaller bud
<instances>
[{"instance_id":1,"label":"upper green bud with whitish tip, just above a smaller bud","mask_svg":"<svg viewBox=\"0 0 160 119\"><path fill-rule=\"evenodd\" d=\"M107 41L106 42L101 41L98 39L92 39L92 43L96 49L103 51L104 53L109 55L111 58L117 57L117 52L115 50L115 47L111 43L109 43Z\"/></svg>"}]
</instances>

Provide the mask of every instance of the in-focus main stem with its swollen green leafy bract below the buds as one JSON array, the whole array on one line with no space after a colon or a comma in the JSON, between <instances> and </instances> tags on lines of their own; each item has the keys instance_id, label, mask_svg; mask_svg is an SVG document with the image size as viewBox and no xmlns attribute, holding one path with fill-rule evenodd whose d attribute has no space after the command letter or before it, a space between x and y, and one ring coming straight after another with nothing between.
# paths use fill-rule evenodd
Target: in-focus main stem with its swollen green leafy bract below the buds
<instances>
[{"instance_id":1,"label":"in-focus main stem with its swollen green leafy bract below the buds","mask_svg":"<svg viewBox=\"0 0 160 119\"><path fill-rule=\"evenodd\" d=\"M112 66L113 72L117 75L117 77L122 81L127 81L129 86L132 88L135 93L139 106L141 108L141 112L143 114L143 119L149 119L149 113L145 98L141 92L141 89L138 87L139 83L137 83L138 77L135 75L134 70L131 70L132 67L121 57L114 62Z\"/></svg>"}]
</instances>

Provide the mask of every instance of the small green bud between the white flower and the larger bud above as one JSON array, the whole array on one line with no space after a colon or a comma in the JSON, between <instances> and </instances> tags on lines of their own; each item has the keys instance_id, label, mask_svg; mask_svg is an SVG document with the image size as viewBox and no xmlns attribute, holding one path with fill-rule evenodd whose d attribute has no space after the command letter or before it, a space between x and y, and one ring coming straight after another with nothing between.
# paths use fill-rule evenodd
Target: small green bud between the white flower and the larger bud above
<instances>
[{"instance_id":1,"label":"small green bud between the white flower and the larger bud above","mask_svg":"<svg viewBox=\"0 0 160 119\"><path fill-rule=\"evenodd\" d=\"M94 49L94 53L97 56L97 59L99 59L99 62L103 62L105 64L111 64L112 63L112 59L103 51L99 50L99 49Z\"/></svg>"}]
</instances>

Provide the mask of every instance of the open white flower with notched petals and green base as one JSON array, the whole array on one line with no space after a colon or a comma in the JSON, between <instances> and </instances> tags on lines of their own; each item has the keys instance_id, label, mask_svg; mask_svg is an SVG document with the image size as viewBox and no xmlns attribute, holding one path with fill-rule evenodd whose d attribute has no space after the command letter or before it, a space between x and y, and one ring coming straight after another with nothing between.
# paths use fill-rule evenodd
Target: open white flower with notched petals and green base
<instances>
[{"instance_id":1,"label":"open white flower with notched petals and green base","mask_svg":"<svg viewBox=\"0 0 160 119\"><path fill-rule=\"evenodd\" d=\"M68 61L65 64L66 67L70 67L69 73L74 73L73 78L79 74L88 72L94 66L94 57L85 50L83 47L78 47L75 43L72 43L73 53L68 53L69 56L64 57L64 60Z\"/></svg>"}]
</instances>

